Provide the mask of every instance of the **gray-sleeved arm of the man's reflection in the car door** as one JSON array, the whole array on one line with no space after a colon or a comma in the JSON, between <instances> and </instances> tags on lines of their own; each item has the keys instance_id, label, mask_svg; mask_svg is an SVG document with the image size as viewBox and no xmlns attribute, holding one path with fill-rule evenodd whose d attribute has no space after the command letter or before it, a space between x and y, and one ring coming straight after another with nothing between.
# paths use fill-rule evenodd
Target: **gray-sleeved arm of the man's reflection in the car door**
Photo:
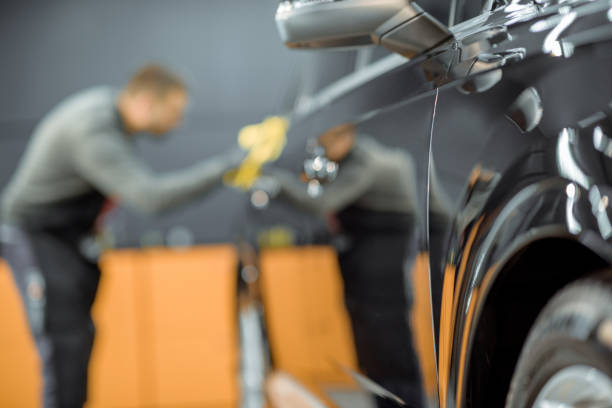
<instances>
[{"instance_id":1,"label":"gray-sleeved arm of the man's reflection in the car door","mask_svg":"<svg viewBox=\"0 0 612 408\"><path fill-rule=\"evenodd\" d=\"M365 163L340 165L336 180L324 185L323 193L313 198L307 186L298 176L278 167L269 167L264 175L272 177L280 185L280 194L298 207L319 214L339 211L363 195L374 182L374 174Z\"/></svg>"}]
</instances>

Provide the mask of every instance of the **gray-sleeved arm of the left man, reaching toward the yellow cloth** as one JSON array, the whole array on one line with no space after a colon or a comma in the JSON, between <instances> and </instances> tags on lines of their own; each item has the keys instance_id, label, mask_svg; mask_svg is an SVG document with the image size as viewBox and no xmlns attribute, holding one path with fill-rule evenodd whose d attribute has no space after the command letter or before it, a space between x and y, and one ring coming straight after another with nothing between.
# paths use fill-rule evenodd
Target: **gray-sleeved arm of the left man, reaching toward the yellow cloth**
<instances>
[{"instance_id":1,"label":"gray-sleeved arm of the left man, reaching toward the yellow cloth","mask_svg":"<svg viewBox=\"0 0 612 408\"><path fill-rule=\"evenodd\" d=\"M236 149L183 170L156 174L132 153L118 134L98 135L78 144L77 171L100 192L145 213L158 213L212 189L239 164Z\"/></svg>"}]
</instances>

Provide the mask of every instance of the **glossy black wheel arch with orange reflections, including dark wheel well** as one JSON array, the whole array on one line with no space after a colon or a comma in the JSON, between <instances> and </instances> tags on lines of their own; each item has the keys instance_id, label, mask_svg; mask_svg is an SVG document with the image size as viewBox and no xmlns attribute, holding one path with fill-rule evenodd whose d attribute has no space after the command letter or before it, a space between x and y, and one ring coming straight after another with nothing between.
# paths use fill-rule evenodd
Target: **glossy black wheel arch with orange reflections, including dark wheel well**
<instances>
[{"instance_id":1,"label":"glossy black wheel arch with orange reflections, including dark wheel well","mask_svg":"<svg viewBox=\"0 0 612 408\"><path fill-rule=\"evenodd\" d=\"M503 406L488 402L489 395L504 398L539 311L567 283L612 265L612 248L592 222L584 191L576 187L579 194L570 196L569 185L576 186L558 177L536 180L461 231L470 239L458 241L461 262L447 263L454 272L444 276L450 289L442 296L453 302L440 323L442 405Z\"/></svg>"}]
</instances>

